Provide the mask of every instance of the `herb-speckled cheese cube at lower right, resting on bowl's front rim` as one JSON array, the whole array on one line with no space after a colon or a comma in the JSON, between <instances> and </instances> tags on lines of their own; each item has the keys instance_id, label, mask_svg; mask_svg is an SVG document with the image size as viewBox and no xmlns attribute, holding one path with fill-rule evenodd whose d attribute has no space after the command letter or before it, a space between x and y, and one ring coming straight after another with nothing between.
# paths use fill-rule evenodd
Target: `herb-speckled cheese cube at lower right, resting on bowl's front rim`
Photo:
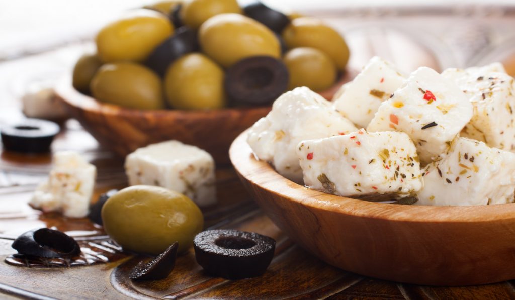
<instances>
[{"instance_id":1,"label":"herb-speckled cheese cube at lower right, resting on bowl's front rim","mask_svg":"<svg viewBox=\"0 0 515 300\"><path fill-rule=\"evenodd\" d=\"M419 205L485 205L513 202L515 153L458 137L449 153L422 171Z\"/></svg>"}]
</instances>

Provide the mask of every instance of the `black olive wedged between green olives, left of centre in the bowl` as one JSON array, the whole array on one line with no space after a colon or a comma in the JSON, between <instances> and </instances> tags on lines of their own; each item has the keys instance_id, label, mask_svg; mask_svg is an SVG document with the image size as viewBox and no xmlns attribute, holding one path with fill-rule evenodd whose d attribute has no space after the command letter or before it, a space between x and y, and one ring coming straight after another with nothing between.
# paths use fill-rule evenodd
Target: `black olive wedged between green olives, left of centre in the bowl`
<instances>
[{"instance_id":1,"label":"black olive wedged between green olives, left of centre in the bowl","mask_svg":"<svg viewBox=\"0 0 515 300\"><path fill-rule=\"evenodd\" d=\"M198 50L195 31L186 26L176 30L173 36L156 47L145 61L145 65L164 77L168 66L181 56Z\"/></svg>"}]
</instances>

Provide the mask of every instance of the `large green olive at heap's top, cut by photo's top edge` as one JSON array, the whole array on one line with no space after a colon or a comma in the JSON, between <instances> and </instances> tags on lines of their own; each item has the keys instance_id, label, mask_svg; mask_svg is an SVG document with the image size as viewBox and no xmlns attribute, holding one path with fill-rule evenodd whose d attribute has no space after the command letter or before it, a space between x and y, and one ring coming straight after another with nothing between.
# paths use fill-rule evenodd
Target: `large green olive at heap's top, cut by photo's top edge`
<instances>
[{"instance_id":1,"label":"large green olive at heap's top, cut by photo's top edge","mask_svg":"<svg viewBox=\"0 0 515 300\"><path fill-rule=\"evenodd\" d=\"M190 0L181 8L181 20L186 26L199 28L210 17L220 13L242 13L236 0Z\"/></svg>"}]
</instances>

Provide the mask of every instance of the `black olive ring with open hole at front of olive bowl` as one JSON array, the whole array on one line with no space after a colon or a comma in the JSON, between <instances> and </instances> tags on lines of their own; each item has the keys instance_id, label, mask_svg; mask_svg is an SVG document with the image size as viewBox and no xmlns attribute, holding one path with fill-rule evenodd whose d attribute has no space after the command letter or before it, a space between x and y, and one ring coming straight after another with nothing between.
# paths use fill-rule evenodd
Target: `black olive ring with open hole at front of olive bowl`
<instances>
[{"instance_id":1,"label":"black olive ring with open hole at front of olive bowl","mask_svg":"<svg viewBox=\"0 0 515 300\"><path fill-rule=\"evenodd\" d=\"M278 59L253 56L232 65L226 73L227 96L238 103L263 105L281 96L288 86L288 69Z\"/></svg>"}]
</instances>

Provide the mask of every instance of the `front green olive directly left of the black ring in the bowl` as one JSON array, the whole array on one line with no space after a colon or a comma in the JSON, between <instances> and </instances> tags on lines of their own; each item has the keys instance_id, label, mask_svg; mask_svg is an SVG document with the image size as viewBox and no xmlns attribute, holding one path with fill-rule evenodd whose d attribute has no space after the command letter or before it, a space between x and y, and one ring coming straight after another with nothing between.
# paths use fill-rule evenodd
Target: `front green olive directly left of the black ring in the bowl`
<instances>
[{"instance_id":1,"label":"front green olive directly left of the black ring in the bowl","mask_svg":"<svg viewBox=\"0 0 515 300\"><path fill-rule=\"evenodd\" d=\"M224 107L224 70L200 53L176 60L164 78L168 103L176 109Z\"/></svg>"}]
</instances>

